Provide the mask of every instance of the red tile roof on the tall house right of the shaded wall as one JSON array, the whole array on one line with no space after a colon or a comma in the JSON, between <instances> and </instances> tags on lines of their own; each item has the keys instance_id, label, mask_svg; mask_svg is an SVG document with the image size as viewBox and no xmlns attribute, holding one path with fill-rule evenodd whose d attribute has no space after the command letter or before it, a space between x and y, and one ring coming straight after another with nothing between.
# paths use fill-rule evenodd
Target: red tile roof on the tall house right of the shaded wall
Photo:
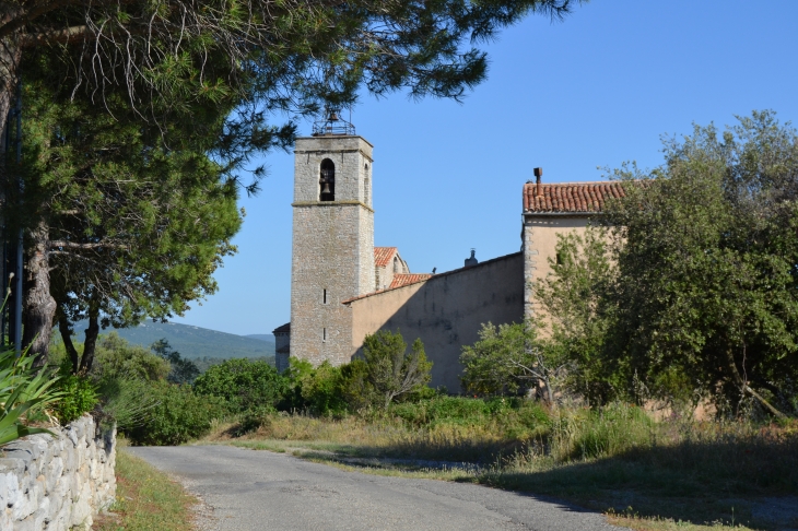
<instances>
[{"instance_id":1,"label":"red tile roof on the tall house right of the shaded wall","mask_svg":"<svg viewBox=\"0 0 798 531\"><path fill-rule=\"evenodd\" d=\"M601 212L607 199L626 197L619 182L562 182L540 188L542 197L537 184L524 185L524 212Z\"/></svg>"}]
</instances>

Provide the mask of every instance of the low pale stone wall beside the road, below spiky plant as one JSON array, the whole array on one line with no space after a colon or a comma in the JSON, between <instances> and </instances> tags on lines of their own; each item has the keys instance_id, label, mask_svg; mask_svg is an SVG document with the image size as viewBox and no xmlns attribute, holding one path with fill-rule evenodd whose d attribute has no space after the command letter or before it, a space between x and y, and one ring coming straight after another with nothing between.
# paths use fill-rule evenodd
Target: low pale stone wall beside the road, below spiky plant
<instances>
[{"instance_id":1,"label":"low pale stone wall beside the road, below spiky plant","mask_svg":"<svg viewBox=\"0 0 798 531\"><path fill-rule=\"evenodd\" d=\"M91 416L0 448L0 529L89 530L116 495L116 430Z\"/></svg>"}]
</instances>

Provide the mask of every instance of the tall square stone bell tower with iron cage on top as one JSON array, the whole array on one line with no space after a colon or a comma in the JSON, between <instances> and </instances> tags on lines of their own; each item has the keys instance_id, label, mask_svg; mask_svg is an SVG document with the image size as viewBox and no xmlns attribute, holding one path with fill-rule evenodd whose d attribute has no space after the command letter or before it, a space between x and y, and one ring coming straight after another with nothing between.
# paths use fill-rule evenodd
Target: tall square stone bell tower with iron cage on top
<instances>
[{"instance_id":1,"label":"tall square stone bell tower with iron cage on top","mask_svg":"<svg viewBox=\"0 0 798 531\"><path fill-rule=\"evenodd\" d=\"M341 302L374 291L372 150L335 111L296 139L290 351L314 365L350 361Z\"/></svg>"}]
</instances>

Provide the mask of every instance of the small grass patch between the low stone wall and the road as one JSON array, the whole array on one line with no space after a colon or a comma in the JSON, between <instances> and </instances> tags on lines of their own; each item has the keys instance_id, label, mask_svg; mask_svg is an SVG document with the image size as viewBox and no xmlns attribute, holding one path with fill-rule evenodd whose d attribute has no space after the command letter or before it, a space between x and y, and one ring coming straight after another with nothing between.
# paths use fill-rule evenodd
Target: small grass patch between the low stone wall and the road
<instances>
[{"instance_id":1,"label":"small grass patch between the low stone wall and the road","mask_svg":"<svg viewBox=\"0 0 798 531\"><path fill-rule=\"evenodd\" d=\"M126 452L116 457L116 503L95 519L95 531L192 529L193 496L148 462Z\"/></svg>"}]
</instances>

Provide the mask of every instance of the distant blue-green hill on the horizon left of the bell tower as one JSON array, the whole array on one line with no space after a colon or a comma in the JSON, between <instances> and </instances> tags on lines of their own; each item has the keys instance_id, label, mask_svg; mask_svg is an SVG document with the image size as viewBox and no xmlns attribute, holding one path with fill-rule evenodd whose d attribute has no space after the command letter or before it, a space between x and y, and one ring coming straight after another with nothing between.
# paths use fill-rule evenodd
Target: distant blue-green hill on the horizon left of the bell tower
<instances>
[{"instance_id":1,"label":"distant blue-green hill on the horizon left of the bell tower","mask_svg":"<svg viewBox=\"0 0 798 531\"><path fill-rule=\"evenodd\" d=\"M86 322L75 324L74 330L79 332L75 337L77 341L83 340L83 330L86 329ZM101 333L107 334L112 329L106 329ZM165 338L174 350L187 358L274 356L274 337L271 334L255 334L258 337L256 339L253 335L236 335L190 324L151 321L142 322L136 328L116 330L116 332L128 343L148 349L157 340Z\"/></svg>"}]
</instances>

